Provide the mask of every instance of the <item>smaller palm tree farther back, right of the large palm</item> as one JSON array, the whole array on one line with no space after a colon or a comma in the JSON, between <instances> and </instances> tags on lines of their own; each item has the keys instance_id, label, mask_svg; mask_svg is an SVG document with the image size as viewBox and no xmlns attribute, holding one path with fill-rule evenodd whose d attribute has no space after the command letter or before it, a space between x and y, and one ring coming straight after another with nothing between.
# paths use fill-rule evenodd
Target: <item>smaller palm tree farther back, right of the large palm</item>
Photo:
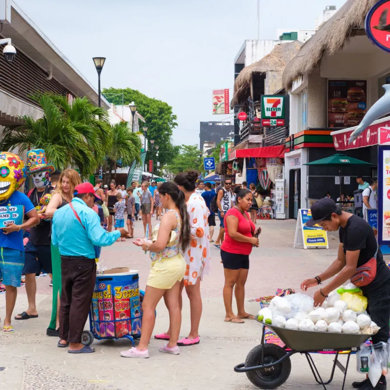
<instances>
[{"instance_id":1,"label":"smaller palm tree farther back, right of the large palm","mask_svg":"<svg viewBox=\"0 0 390 390\"><path fill-rule=\"evenodd\" d=\"M127 122L116 123L111 126L112 144L107 153L109 172L114 169L117 174L117 163L122 166L130 166L135 160L141 163L140 150L142 148L141 139L137 134L132 133Z\"/></svg>"}]
</instances>

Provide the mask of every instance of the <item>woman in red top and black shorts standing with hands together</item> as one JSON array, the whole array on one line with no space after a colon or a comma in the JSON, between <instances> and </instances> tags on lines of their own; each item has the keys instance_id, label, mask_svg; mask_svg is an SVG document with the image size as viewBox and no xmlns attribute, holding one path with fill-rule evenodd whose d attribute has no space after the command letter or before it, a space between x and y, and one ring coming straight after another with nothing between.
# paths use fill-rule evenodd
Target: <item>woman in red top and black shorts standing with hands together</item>
<instances>
[{"instance_id":1,"label":"woman in red top and black shorts standing with hands together","mask_svg":"<svg viewBox=\"0 0 390 390\"><path fill-rule=\"evenodd\" d=\"M243 323L244 319L254 319L245 311L245 283L249 272L249 255L253 246L258 247L257 235L260 228L255 227L248 211L252 206L253 195L248 189L235 189L237 204L225 215L225 239L221 246L221 259L224 268L225 284L223 301L225 322ZM233 289L237 303L237 315L232 309Z\"/></svg>"}]
</instances>

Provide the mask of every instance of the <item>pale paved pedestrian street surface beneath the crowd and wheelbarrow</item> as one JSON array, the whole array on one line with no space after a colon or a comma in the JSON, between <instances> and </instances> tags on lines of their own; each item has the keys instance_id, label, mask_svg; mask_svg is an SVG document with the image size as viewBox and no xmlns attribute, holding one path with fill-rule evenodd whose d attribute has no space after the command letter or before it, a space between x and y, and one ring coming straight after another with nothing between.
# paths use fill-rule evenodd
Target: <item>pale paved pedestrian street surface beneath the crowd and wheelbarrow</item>
<instances>
[{"instance_id":1,"label":"pale paved pedestrian street surface beneath the crowd and wheelbarrow","mask_svg":"<svg viewBox=\"0 0 390 390\"><path fill-rule=\"evenodd\" d=\"M258 222L259 223L259 222ZM300 250L293 248L295 221L261 221L261 248L251 255L247 282L247 298L270 295L277 288L299 289L306 277L320 273L334 259L338 241L330 236L330 250ZM142 222L137 222L136 237L141 236ZM215 235L216 237L216 235ZM71 355L57 347L58 339L47 337L51 314L49 277L39 277L37 305L39 318L14 320L15 333L0 332L0 389L107 389L107 390L250 390L254 387L246 375L235 373L234 365L245 361L248 352L260 343L261 327L255 321L245 324L225 323L222 299L223 268L219 251L212 247L212 271L202 283L203 316L200 324L200 344L180 347L181 354L160 353L160 340L150 343L149 359L128 359L119 352L130 347L128 340L95 341L92 354ZM107 268L129 266L138 270L140 288L145 287L150 261L131 240L116 242L102 251ZM181 334L189 331L189 304L184 297ZM257 313L259 304L248 302L247 311ZM27 309L24 287L14 314ZM5 295L0 295L0 315L5 312ZM168 312L163 304L157 308L156 332L165 331ZM89 325L86 326L89 329ZM330 374L332 356L312 355L323 376ZM345 357L341 358L344 362ZM356 373L355 358L351 359L346 389L351 382L362 379ZM337 370L337 369L336 369ZM342 374L337 370L330 390L341 389ZM319 389L304 356L292 356L292 371L279 389Z\"/></svg>"}]
</instances>

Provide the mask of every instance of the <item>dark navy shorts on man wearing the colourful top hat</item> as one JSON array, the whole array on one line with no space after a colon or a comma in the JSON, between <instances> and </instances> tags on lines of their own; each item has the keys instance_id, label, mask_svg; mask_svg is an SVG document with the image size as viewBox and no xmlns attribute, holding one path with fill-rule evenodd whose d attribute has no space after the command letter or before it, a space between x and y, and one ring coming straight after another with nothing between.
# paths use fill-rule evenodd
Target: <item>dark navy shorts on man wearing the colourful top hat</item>
<instances>
[{"instance_id":1,"label":"dark navy shorts on man wearing the colourful top hat","mask_svg":"<svg viewBox=\"0 0 390 390\"><path fill-rule=\"evenodd\" d=\"M39 275L42 270L45 273L53 273L50 245L33 245L27 242L23 275L26 273Z\"/></svg>"}]
</instances>

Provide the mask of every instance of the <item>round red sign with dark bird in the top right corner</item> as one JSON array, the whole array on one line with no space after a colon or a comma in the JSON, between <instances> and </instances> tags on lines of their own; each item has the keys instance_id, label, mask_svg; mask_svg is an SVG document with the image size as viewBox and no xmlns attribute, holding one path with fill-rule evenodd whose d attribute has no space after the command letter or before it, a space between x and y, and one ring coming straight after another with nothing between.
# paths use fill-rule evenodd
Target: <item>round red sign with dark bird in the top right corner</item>
<instances>
[{"instance_id":1,"label":"round red sign with dark bird in the top right corner","mask_svg":"<svg viewBox=\"0 0 390 390\"><path fill-rule=\"evenodd\" d=\"M365 28L376 46L390 52L390 0L380 0L370 9Z\"/></svg>"}]
</instances>

